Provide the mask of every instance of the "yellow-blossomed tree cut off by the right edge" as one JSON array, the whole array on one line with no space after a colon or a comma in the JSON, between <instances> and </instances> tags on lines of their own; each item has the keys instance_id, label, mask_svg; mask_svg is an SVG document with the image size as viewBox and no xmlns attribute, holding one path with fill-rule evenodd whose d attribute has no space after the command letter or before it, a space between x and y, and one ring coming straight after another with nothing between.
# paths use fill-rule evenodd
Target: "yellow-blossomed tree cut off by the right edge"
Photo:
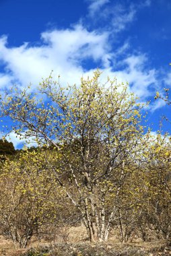
<instances>
[{"instance_id":1,"label":"yellow-blossomed tree cut off by the right edge","mask_svg":"<svg viewBox=\"0 0 171 256\"><path fill-rule=\"evenodd\" d=\"M149 144L143 211L158 238L171 238L171 150L167 134L158 133Z\"/></svg>"}]
</instances>

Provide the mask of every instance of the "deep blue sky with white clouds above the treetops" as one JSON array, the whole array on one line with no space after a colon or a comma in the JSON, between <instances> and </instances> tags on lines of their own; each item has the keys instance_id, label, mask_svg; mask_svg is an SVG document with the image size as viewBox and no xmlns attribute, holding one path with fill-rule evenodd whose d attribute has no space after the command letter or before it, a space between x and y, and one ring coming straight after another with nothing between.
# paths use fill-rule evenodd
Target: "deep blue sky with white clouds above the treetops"
<instances>
[{"instance_id":1,"label":"deep blue sky with white clouds above the treetops","mask_svg":"<svg viewBox=\"0 0 171 256\"><path fill-rule=\"evenodd\" d=\"M170 0L0 0L0 90L36 86L52 69L63 84L79 84L98 67L151 100L148 125L157 131L170 117L154 100L171 85L170 13Z\"/></svg>"}]
</instances>

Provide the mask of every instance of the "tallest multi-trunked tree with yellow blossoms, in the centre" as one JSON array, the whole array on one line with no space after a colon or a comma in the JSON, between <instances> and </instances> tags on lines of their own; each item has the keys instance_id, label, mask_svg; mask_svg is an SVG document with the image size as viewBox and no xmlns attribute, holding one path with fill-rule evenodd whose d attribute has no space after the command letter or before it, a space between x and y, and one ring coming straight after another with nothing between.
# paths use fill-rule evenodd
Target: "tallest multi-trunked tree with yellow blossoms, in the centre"
<instances>
[{"instance_id":1,"label":"tallest multi-trunked tree with yellow blossoms, in the centre","mask_svg":"<svg viewBox=\"0 0 171 256\"><path fill-rule=\"evenodd\" d=\"M139 168L143 149L143 105L124 84L108 78L101 85L99 79L96 71L81 78L78 88L63 88L50 75L37 97L15 88L1 101L1 115L15 121L16 134L60 153L58 168L47 162L48 170L81 214L92 242L108 239L121 189Z\"/></svg>"}]
</instances>

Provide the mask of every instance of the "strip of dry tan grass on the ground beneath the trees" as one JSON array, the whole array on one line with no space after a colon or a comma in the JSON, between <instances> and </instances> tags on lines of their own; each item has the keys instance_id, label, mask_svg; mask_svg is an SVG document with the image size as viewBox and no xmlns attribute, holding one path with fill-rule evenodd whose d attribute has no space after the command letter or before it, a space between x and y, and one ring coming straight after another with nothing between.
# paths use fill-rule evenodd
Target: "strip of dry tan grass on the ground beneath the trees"
<instances>
[{"instance_id":1,"label":"strip of dry tan grass on the ground beneath the trees","mask_svg":"<svg viewBox=\"0 0 171 256\"><path fill-rule=\"evenodd\" d=\"M168 256L166 241L119 243L112 234L108 243L90 244L83 226L63 227L53 243L32 239L27 249L15 249L11 241L0 236L0 256Z\"/></svg>"}]
</instances>

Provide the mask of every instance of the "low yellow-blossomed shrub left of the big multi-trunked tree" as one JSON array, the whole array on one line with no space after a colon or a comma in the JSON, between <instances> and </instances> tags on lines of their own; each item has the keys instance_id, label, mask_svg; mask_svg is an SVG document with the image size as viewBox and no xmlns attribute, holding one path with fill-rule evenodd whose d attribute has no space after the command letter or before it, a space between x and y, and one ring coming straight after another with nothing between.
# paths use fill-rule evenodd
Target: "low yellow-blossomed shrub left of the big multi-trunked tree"
<instances>
[{"instance_id":1,"label":"low yellow-blossomed shrub left of the big multi-trunked tree","mask_svg":"<svg viewBox=\"0 0 171 256\"><path fill-rule=\"evenodd\" d=\"M56 153L57 154L57 153ZM48 172L48 152L22 152L18 160L6 160L0 174L0 224L17 247L26 247L46 222L52 222L60 208L61 188ZM51 159L52 163L53 160Z\"/></svg>"}]
</instances>

